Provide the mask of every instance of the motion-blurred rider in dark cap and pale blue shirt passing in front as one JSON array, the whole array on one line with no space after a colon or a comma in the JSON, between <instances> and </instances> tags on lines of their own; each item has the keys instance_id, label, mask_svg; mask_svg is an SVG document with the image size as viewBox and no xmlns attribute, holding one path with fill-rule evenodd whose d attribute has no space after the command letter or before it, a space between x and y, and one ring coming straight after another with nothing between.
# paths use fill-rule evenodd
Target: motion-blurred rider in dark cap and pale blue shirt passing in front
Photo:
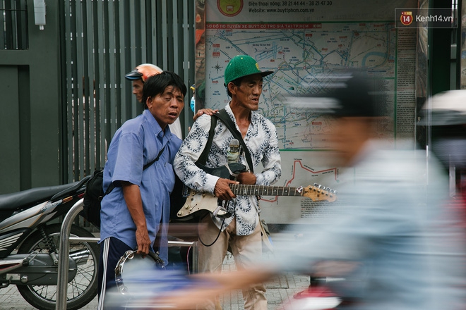
<instances>
[{"instance_id":1,"label":"motion-blurred rider in dark cap and pale blue shirt passing in front","mask_svg":"<svg viewBox=\"0 0 466 310\"><path fill-rule=\"evenodd\" d=\"M340 205L332 217L324 225L298 221L309 237L275 242L276 259L244 271L196 275L191 290L156 302L192 309L219 292L292 271L345 279L326 283L342 302L334 299L325 309L464 309L465 238L462 218L446 207L448 179L434 159L426 166L431 156L425 151L393 149L393 142L378 137L384 114L374 97L386 91L360 74L337 75L321 83L330 88L322 98L299 99L301 109L335 116L328 134L335 153L327 157L354 178L337 188ZM309 299L307 308L290 309L312 305Z\"/></svg>"}]
</instances>

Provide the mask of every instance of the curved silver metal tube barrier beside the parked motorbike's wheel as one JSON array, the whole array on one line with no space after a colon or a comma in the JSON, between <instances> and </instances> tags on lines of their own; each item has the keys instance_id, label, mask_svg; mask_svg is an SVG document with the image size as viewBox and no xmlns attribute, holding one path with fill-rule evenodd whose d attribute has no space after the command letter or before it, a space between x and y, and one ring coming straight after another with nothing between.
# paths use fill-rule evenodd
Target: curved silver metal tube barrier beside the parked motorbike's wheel
<instances>
[{"instance_id":1,"label":"curved silver metal tube barrier beside the parked motorbike's wheel","mask_svg":"<svg viewBox=\"0 0 466 310\"><path fill-rule=\"evenodd\" d=\"M60 239L59 239L59 253L68 253L70 251L70 241L81 241L81 242L97 242L100 238L97 237L70 237L71 225L73 224L74 218L78 216L79 212L83 210L83 201L80 199L74 204L70 211L66 213L66 216L61 224ZM169 247L193 247L193 272L197 272L197 247L196 242L189 241L169 241ZM58 280L56 283L56 310L66 310L66 295L68 294L68 268L69 261L68 255L59 255L58 263Z\"/></svg>"}]
</instances>

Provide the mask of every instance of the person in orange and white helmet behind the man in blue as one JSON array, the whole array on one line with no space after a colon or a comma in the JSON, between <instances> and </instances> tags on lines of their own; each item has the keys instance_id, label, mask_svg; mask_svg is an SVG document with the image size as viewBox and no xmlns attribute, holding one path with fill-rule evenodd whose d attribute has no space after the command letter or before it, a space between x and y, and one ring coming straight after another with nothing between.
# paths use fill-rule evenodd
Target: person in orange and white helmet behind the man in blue
<instances>
[{"instance_id":1,"label":"person in orange and white helmet behind the man in blue","mask_svg":"<svg viewBox=\"0 0 466 310\"><path fill-rule=\"evenodd\" d=\"M152 75L161 73L162 71L163 70L161 68L153 65L152 63L143 63L134 68L130 73L126 73L124 77L132 82L133 94L136 96L136 100L139 102L143 101L143 86L145 80ZM172 133L177 135L177 137L181 140L183 139L183 132L181 130L181 122L179 121L179 118L177 118L173 124L169 124L169 128Z\"/></svg>"}]
</instances>

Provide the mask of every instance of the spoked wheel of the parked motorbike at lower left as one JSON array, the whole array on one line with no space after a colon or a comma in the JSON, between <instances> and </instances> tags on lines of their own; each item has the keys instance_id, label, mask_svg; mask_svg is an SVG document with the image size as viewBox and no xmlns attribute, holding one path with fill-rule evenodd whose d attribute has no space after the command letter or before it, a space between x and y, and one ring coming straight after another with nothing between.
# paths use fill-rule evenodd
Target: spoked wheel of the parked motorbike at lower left
<instances>
[{"instance_id":1,"label":"spoked wheel of the parked motorbike at lower left","mask_svg":"<svg viewBox=\"0 0 466 310\"><path fill-rule=\"evenodd\" d=\"M59 248L60 224L49 225L45 233L52 237L56 249ZM94 237L87 230L71 226L73 237ZM80 309L94 299L97 294L97 267L99 264L100 247L94 242L70 242L70 254L89 251L87 261L78 263L76 277L68 282L66 309ZM31 252L48 253L49 247L44 242L40 231L35 231L21 244L18 254ZM40 310L56 309L56 285L17 285L18 291L30 305Z\"/></svg>"}]
</instances>

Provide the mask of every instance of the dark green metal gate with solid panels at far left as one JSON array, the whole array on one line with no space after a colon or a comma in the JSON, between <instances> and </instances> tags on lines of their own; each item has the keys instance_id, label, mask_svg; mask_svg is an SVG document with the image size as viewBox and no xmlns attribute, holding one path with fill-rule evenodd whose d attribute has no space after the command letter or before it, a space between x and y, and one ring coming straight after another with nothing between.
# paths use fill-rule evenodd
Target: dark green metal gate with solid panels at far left
<instances>
[{"instance_id":1,"label":"dark green metal gate with solid panels at far left","mask_svg":"<svg viewBox=\"0 0 466 310\"><path fill-rule=\"evenodd\" d=\"M35 13L32 0L0 1L0 194L63 182L60 14L49 0L45 25Z\"/></svg>"}]
</instances>

